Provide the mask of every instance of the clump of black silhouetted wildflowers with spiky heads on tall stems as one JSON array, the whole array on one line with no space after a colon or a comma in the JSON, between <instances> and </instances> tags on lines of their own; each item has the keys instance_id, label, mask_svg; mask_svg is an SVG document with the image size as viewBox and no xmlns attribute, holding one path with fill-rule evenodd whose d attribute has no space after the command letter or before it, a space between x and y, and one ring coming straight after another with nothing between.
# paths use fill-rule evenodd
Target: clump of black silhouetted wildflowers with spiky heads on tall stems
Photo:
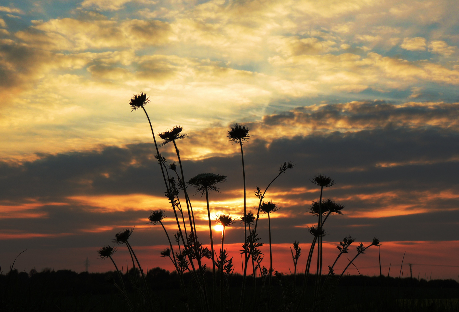
<instances>
[{"instance_id":1,"label":"clump of black silhouetted wildflowers with spiky heads on tall stems","mask_svg":"<svg viewBox=\"0 0 459 312\"><path fill-rule=\"evenodd\" d=\"M271 214L279 209L278 205L273 201L265 201L267 192L271 185L284 173L294 168L292 162L284 162L280 165L278 173L269 182L269 184L262 189L256 187L255 196L258 199L258 207L256 214L247 212L246 207L246 171L245 171L245 160L243 143L248 141L250 129L246 125L235 123L230 127L228 131L229 141L233 144L239 144L241 150L241 162L242 162L242 188L244 192L244 200L241 203L243 206L243 215L241 221L244 225L244 240L241 246L242 256L242 277L239 284L239 298L234 297L234 290L231 291L229 282L234 272L234 266L232 263L232 257L229 258L226 250L224 249L224 237L225 229L235 222L235 219L230 217L229 214L222 214L216 217L215 221L223 226L221 248L219 254L214 250L214 239L212 231L211 220L211 207L209 205L209 192L218 191L218 185L226 180L226 176L215 173L200 173L195 177L185 179L185 168L181 161L180 151L177 142L181 139L186 139L187 134L183 133L181 126L174 126L172 129L166 130L159 133L159 138L162 139L161 145L167 145L172 143L174 145L176 161L168 160L161 155L155 133L151 125L150 118L148 117L145 106L149 103L149 99L145 94L134 95L129 105L133 108L133 111L142 108L148 119L148 123L151 128L151 134L155 144L157 154L156 159L161 168L162 178L165 184L165 195L168 198L169 204L171 205L172 211L174 212L175 222L177 223L177 232L174 234L175 243L174 246L171 236L168 234L167 228L162 223L165 216L164 211L161 209L151 212L149 220L152 226L161 224L166 237L168 239L169 247L161 252L161 256L167 257L173 263L175 271L179 275L180 287L182 288L182 295L186 298L185 310L186 311L248 311L250 307L255 303L256 306L262 306L266 311L272 311L274 303L278 301L276 294L276 287L273 284L273 253L272 253L272 238L271 238ZM170 171L170 172L169 172ZM169 174L170 173L170 174ZM175 173L175 176L174 176ZM177 180L176 180L177 179ZM185 182L187 181L187 182ZM336 256L335 262L329 266L328 274L322 277L323 267L323 236L325 234L324 224L326 220L334 214L341 214L343 205L336 203L331 199L324 200L323 192L324 188L329 188L335 184L330 176L319 174L311 179L311 182L320 187L319 199L313 201L309 207L309 212L317 217L317 225L308 228L308 232L312 234L313 239L309 246L309 252L306 259L306 267L304 271L304 278L300 285L297 279L297 263L301 256L302 247L297 242L293 243L291 249L291 256L293 260L293 279L286 280L284 274L276 271L275 280L281 288L281 298L283 302L283 309L285 311L301 311L305 308L310 310L319 311L323 310L325 306L330 303L330 290L336 289L341 277L347 271L347 268L353 264L353 261L361 254L364 253L370 246L379 245L379 241L374 239L369 246L360 244L356 248L356 255L347 263L346 268L341 272L340 275L336 275L333 271L335 264L343 253L347 253L350 245L354 242L351 236L343 239L339 246L337 246L339 253ZM188 194L188 186L196 188L196 193L201 196L206 196L207 204L207 221L209 226L209 237L203 237L204 240L210 242L210 250L207 247L203 247L199 241L196 231L196 221L193 212L193 206L191 198ZM183 195L181 194L183 192ZM182 209L182 203L185 201L186 211ZM269 268L263 265L264 255L261 251L263 243L260 241L261 238L257 233L258 223L261 222L260 212L267 215L268 230L269 230ZM185 222L185 218L188 223ZM264 221L263 221L264 222ZM248 231L247 231L248 229ZM145 274L142 267L134 253L132 246L129 244L129 238L133 233L133 229L125 229L124 231L116 234L115 242L117 244L126 245L129 254L131 256L132 265L134 271L139 270L140 274L134 274L135 278L132 279L132 283L136 284L136 290L139 292L140 298L142 298L142 306L144 310L153 311L154 305L151 301L151 290L146 283ZM241 235L242 236L242 235ZM317 247L316 247L317 246ZM316 248L315 248L316 247ZM308 278L310 270L313 265L314 249L316 250L316 267L314 275L314 287L313 290L308 288ZM112 258L115 249L111 246L102 247L99 251L102 259L110 258L115 266L118 275L118 267ZM134 262L135 259L135 262ZM210 260L212 263L212 272L209 272L207 266L203 263L203 260ZM252 276L253 285L252 290L247 290L247 268L248 263L252 262ZM137 267L136 267L137 264ZM185 273L189 273L191 280L185 282ZM209 276L212 281L212 286L209 284ZM219 279L219 290L217 290L217 278ZM261 289L257 288L258 279L261 278ZM126 285L123 284L123 279L120 278L120 284L117 289L123 294L123 297L129 301L129 296L126 294ZM226 287L225 287L226 283ZM299 287L298 287L299 286ZM237 290L237 289L236 289ZM196 293L196 296L191 296L191 293ZM249 295L249 293L252 293ZM227 299L225 299L227 298ZM237 306L233 306L233 301L237 302ZM134 304L128 306L134 309Z\"/></svg>"}]
</instances>

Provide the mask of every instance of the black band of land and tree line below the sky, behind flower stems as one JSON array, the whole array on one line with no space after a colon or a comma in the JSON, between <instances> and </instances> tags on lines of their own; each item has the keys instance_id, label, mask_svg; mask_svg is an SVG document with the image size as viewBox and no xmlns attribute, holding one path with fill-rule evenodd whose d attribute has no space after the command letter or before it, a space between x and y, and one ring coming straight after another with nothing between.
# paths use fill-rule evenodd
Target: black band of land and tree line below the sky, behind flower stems
<instances>
[{"instance_id":1,"label":"black band of land and tree line below the sky, behind flower stems","mask_svg":"<svg viewBox=\"0 0 459 312\"><path fill-rule=\"evenodd\" d=\"M140 274L131 269L123 274L130 300L135 302L138 292L134 289L135 276ZM297 275L297 287L301 287L302 274ZM81 312L116 312L128 311L125 298L115 288L113 281L117 272L75 273L69 270L44 270L37 273L18 272L0 275L0 311L81 311ZM212 282L209 273L206 278ZM270 311L285 311L285 285L291 285L293 277L283 275L273 279L273 293ZM184 274L185 283L192 283L189 273ZM237 299L241 291L240 274L233 274L229 279L229 298L225 311L237 309ZM180 279L176 272L169 273L159 267L146 274L146 281L151 290L154 311L185 311L184 298L180 293ZM257 287L262 287L262 279L257 279ZM308 279L308 293L313 293L315 276ZM190 294L193 295L193 294ZM232 297L232 298L231 298ZM329 294L327 305L322 311L459 311L459 283L453 279L429 280L398 279L392 277L343 276L339 285ZM244 311L267 311L266 298L253 296L253 280L247 280L246 302ZM309 300L308 300L309 299ZM308 298L298 311L315 309ZM218 300L218 298L216 298ZM191 303L192 301L190 301ZM200 311L197 306L190 306L192 311ZM139 310L142 311L142 310Z\"/></svg>"}]
</instances>

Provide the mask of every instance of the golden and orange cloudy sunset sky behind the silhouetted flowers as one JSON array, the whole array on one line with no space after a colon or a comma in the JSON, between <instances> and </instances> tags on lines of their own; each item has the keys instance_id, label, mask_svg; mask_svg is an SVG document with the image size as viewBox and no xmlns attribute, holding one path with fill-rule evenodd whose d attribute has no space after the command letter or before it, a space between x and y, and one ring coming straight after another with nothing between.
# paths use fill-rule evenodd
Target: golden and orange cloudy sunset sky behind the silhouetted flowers
<instances>
[{"instance_id":1,"label":"golden and orange cloudy sunset sky behind the silhouetted flowers","mask_svg":"<svg viewBox=\"0 0 459 312\"><path fill-rule=\"evenodd\" d=\"M256 186L295 163L266 195L281 207L275 269L292 268L298 240L304 270L305 227L316 220L307 211L319 197L310 178L326 174L336 185L324 196L346 214L327 221L325 265L342 237L376 236L384 274L391 264L398 276L406 251L416 277L458 279L458 10L450 0L0 1L2 269L27 249L21 271L81 272L88 257L91 272L105 272L97 250L134 226L141 263L172 268L147 217L165 209L174 233L173 212L146 116L128 105L144 92L155 133L179 124L189 134L178 142L185 179L228 176L210 194L212 215L243 211L233 123L251 129L249 210ZM205 198L191 200L208 244ZM260 226L268 243L266 216ZM242 240L236 223L226 236L236 271ZM379 274L377 247L360 257L361 273ZM115 260L126 259L119 246Z\"/></svg>"}]
</instances>

